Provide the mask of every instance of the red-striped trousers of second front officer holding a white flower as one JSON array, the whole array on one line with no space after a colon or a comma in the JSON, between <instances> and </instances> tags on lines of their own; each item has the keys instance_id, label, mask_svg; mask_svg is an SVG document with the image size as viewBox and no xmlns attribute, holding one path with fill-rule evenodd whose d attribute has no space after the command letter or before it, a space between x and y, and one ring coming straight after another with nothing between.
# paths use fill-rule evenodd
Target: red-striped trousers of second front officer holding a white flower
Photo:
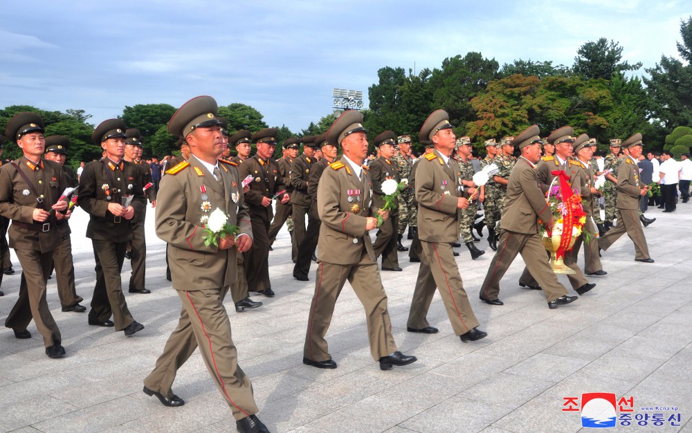
<instances>
[{"instance_id":1,"label":"red-striped trousers of second front officer holding a white flower","mask_svg":"<svg viewBox=\"0 0 692 433\"><path fill-rule=\"evenodd\" d=\"M358 300L365 308L367 336L374 360L389 356L397 351L392 336L392 321L387 311L387 295L382 286L377 264L363 248L357 264L339 265L320 262L315 275L315 294L310 305L310 316L305 334L303 356L313 361L330 360L327 347L327 330L334 315L334 306L346 280L353 287Z\"/></svg>"}]
</instances>

